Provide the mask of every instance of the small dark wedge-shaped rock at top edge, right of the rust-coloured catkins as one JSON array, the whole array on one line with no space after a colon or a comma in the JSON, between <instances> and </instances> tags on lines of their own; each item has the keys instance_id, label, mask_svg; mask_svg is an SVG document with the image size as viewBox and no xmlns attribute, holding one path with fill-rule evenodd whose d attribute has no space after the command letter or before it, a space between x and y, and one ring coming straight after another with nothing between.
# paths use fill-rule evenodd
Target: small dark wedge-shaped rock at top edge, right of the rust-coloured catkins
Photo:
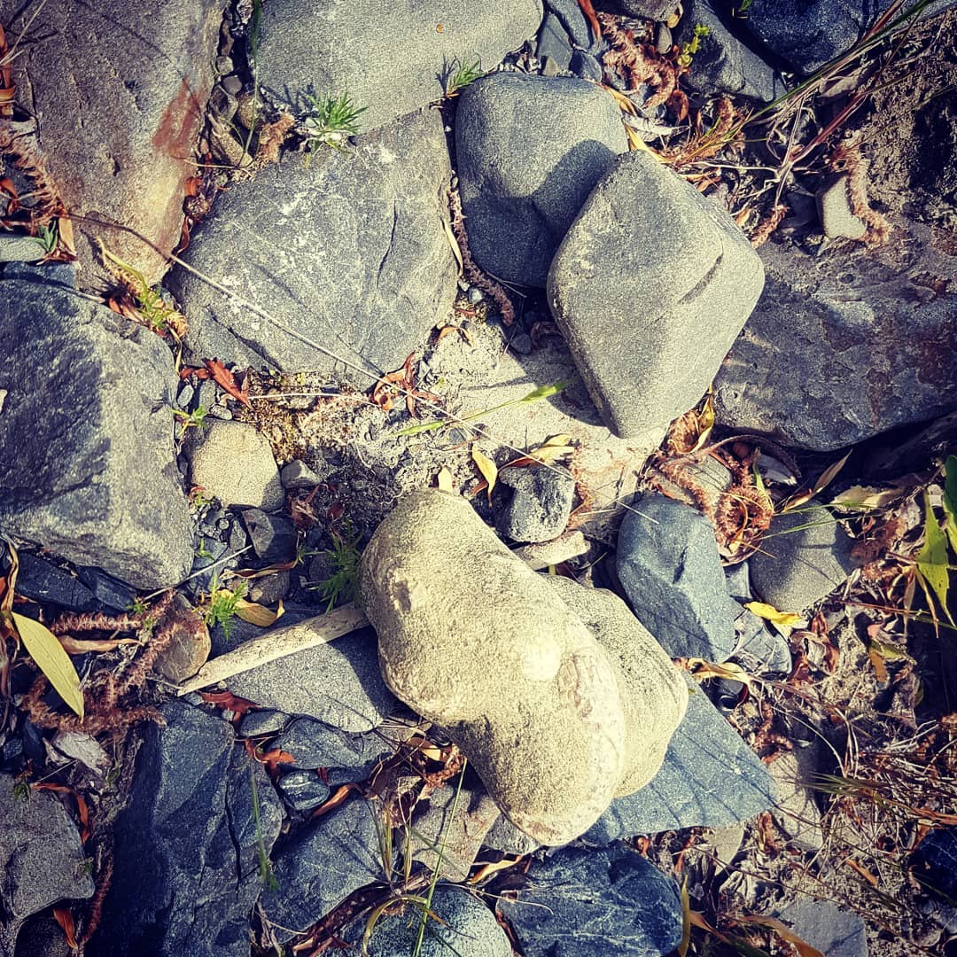
<instances>
[{"instance_id":1,"label":"small dark wedge-shaped rock at top edge, right of the rust-coloured catkins","mask_svg":"<svg viewBox=\"0 0 957 957\"><path fill-rule=\"evenodd\" d=\"M731 93L764 102L785 93L787 88L774 68L728 31L723 16L715 10L714 0L685 4L675 42L690 43L698 26L707 27L708 34L700 37L698 53L682 85L697 93Z\"/></svg>"}]
</instances>

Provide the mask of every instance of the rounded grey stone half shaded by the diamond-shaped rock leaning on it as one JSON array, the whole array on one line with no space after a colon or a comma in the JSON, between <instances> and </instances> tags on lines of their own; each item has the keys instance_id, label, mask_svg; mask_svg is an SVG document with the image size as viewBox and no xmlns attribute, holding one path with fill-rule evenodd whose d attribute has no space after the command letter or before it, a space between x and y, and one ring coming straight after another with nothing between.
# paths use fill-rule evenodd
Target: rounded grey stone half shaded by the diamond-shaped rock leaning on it
<instances>
[{"instance_id":1,"label":"rounded grey stone half shaded by the diamond-shaped rock leaning on it","mask_svg":"<svg viewBox=\"0 0 957 957\"><path fill-rule=\"evenodd\" d=\"M627 150L621 111L594 83L517 73L473 83L458 105L456 157L476 262L544 286L572 220Z\"/></svg>"}]
</instances>

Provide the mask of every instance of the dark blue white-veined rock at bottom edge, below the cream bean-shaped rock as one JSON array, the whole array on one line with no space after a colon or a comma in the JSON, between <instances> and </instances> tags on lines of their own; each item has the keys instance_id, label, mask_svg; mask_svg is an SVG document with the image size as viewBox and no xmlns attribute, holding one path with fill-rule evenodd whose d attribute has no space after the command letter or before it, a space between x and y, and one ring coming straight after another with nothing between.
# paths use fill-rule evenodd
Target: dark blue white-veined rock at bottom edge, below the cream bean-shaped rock
<instances>
[{"instance_id":1,"label":"dark blue white-veined rock at bottom edge, below the cream bean-shaped rock","mask_svg":"<svg viewBox=\"0 0 957 957\"><path fill-rule=\"evenodd\" d=\"M499 901L526 957L664 957L681 940L678 884L624 844L566 847Z\"/></svg>"}]
</instances>

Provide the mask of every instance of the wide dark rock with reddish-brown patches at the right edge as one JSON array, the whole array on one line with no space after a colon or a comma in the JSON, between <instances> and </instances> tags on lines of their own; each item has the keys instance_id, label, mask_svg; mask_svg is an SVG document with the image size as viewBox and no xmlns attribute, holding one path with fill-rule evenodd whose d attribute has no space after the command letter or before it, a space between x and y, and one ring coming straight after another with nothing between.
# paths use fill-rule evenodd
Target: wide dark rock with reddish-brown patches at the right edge
<instances>
[{"instance_id":1,"label":"wide dark rock with reddish-brown patches at the right edge","mask_svg":"<svg viewBox=\"0 0 957 957\"><path fill-rule=\"evenodd\" d=\"M827 452L957 408L957 259L924 226L761 257L764 295L715 379L721 424Z\"/></svg>"}]
</instances>

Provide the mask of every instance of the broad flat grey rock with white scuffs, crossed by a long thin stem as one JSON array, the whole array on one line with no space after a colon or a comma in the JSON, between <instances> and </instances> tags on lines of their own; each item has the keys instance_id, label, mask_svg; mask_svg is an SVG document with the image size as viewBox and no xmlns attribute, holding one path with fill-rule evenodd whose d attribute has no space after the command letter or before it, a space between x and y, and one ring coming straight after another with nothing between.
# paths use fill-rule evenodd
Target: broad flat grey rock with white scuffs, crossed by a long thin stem
<instances>
[{"instance_id":1,"label":"broad flat grey rock with white scuffs, crossed by a long thin stem","mask_svg":"<svg viewBox=\"0 0 957 957\"><path fill-rule=\"evenodd\" d=\"M364 388L366 377L313 344L376 376L401 366L455 299L442 228L450 174L441 118L427 110L354 150L323 149L308 167L292 156L235 185L183 258L228 278L275 322L178 269L170 285L189 313L187 345L255 366L337 371Z\"/></svg>"}]
</instances>

